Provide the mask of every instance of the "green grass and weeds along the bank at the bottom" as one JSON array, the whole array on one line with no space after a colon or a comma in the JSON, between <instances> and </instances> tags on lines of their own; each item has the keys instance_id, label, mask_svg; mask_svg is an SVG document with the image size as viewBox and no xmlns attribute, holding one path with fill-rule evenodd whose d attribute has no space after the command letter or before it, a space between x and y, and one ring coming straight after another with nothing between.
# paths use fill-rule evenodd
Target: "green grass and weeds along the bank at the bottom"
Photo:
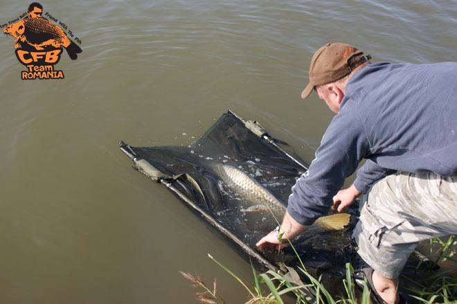
<instances>
[{"instance_id":1,"label":"green grass and weeds along the bank at the bottom","mask_svg":"<svg viewBox=\"0 0 457 304\"><path fill-rule=\"evenodd\" d=\"M438 238L431 240L431 248L438 249L426 258L433 260L433 262L451 262L451 268L447 271L437 272L436 275L424 278L420 282L414 282L415 288L409 289L411 295L416 298L420 303L457 303L457 260L456 260L456 245L457 238L452 235L446 241ZM215 260L212 256L208 255L213 262L224 271L233 276L244 289L247 290L249 298L245 304L284 304L285 296L287 299L294 299L294 303L328 303L328 304L368 304L370 303L370 291L368 287L364 287L361 291L361 296L357 298L355 292L355 283L352 280L354 269L348 263L346 264L346 278L343 279L343 285L346 294L335 296L331 295L321 283L320 278L314 278L306 271L301 262L301 267L298 270L288 267L288 272L285 275L277 274L274 271L266 271L258 273L251 263L253 271L253 283L248 287L236 274L222 265L221 262ZM298 256L298 254L297 254ZM455 267L454 267L455 265ZM420 265L418 265L420 267ZM303 283L297 271L300 271L310 283ZM203 289L203 292L197 292L197 299L201 303L212 304L225 304L222 296L217 294L216 280L213 281L213 286L210 288L206 286L204 281L199 276L192 276L181 272L181 274L192 282L193 287ZM401 278L407 279L407 278ZM290 300L289 300L290 301Z\"/></svg>"}]
</instances>

